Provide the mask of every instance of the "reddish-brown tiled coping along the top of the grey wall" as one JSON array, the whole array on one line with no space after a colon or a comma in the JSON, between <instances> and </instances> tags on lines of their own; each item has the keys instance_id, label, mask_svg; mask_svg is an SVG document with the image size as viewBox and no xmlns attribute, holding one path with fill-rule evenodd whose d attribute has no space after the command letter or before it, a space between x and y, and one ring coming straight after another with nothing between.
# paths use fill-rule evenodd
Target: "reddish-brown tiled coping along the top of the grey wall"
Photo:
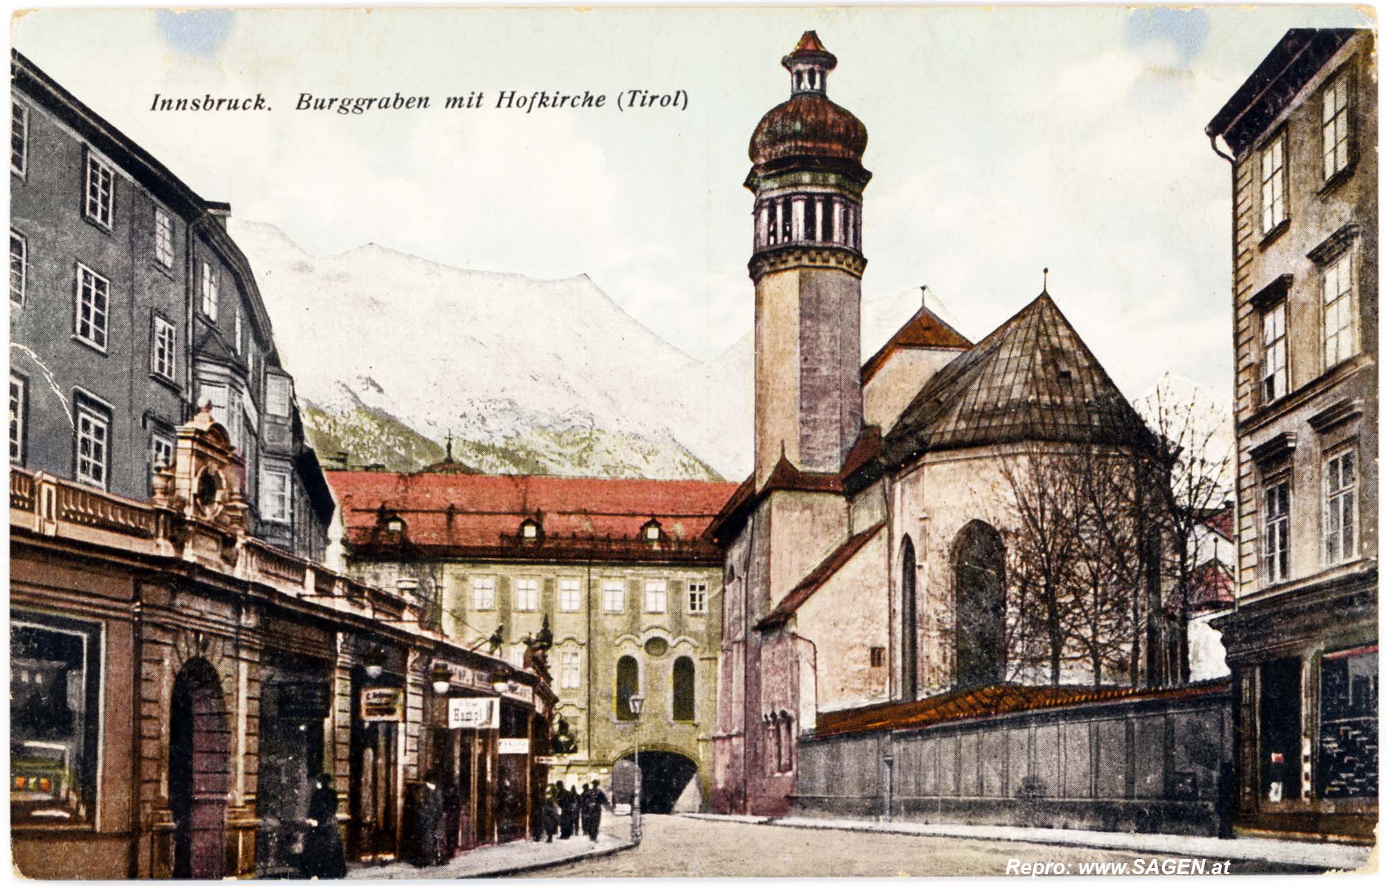
<instances>
[{"instance_id":1,"label":"reddish-brown tiled coping along the top of the grey wall","mask_svg":"<svg viewBox=\"0 0 1386 886\"><path fill-rule=\"evenodd\" d=\"M918 702L891 702L888 704L873 704L870 707L854 707L844 711L819 714L814 735L920 729L942 722L977 720L1046 707L1067 707L1070 704L1123 702L1128 699L1186 699L1227 692L1231 685L1231 681L1224 677L1221 679L1177 688L1019 686L1015 684L973 686L969 689L955 689L954 692Z\"/></svg>"}]
</instances>

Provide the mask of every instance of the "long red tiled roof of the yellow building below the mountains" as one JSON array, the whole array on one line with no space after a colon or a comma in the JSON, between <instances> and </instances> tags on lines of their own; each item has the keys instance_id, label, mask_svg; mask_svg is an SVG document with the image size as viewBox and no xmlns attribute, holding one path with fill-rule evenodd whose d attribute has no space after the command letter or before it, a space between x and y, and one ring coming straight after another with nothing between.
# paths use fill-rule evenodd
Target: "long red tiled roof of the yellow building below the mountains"
<instances>
[{"instance_id":1,"label":"long red tiled roof of the yellow building below the mountains","mask_svg":"<svg viewBox=\"0 0 1386 886\"><path fill-rule=\"evenodd\" d=\"M599 550L642 542L654 519L665 549L705 555L703 530L736 491L730 483L608 480L460 473L327 471L349 541L380 544L381 514L399 517L414 548L482 553L514 546L520 524L536 519L543 548ZM534 548L534 544L529 544Z\"/></svg>"}]
</instances>

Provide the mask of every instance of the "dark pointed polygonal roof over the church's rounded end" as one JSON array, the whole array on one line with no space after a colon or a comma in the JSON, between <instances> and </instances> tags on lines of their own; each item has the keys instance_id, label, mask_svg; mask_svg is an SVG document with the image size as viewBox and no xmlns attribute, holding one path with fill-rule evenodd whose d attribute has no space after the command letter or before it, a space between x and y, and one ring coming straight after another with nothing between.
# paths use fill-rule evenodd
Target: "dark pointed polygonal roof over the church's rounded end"
<instances>
[{"instance_id":1,"label":"dark pointed polygonal roof over the church's rounded end","mask_svg":"<svg viewBox=\"0 0 1386 886\"><path fill-rule=\"evenodd\" d=\"M929 451L1016 441L1152 442L1048 291L929 380L883 459L895 467Z\"/></svg>"}]
</instances>

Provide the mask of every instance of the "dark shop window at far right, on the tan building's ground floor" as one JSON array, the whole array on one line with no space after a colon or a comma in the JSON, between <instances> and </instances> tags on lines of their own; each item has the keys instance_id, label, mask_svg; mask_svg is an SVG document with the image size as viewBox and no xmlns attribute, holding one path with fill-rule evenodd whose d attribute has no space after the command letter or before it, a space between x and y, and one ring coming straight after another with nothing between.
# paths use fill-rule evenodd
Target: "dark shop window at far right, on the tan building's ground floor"
<instances>
[{"instance_id":1,"label":"dark shop window at far right, on the tan building's ground floor","mask_svg":"<svg viewBox=\"0 0 1386 886\"><path fill-rule=\"evenodd\" d=\"M1315 788L1328 800L1376 797L1376 646L1324 656Z\"/></svg>"}]
</instances>

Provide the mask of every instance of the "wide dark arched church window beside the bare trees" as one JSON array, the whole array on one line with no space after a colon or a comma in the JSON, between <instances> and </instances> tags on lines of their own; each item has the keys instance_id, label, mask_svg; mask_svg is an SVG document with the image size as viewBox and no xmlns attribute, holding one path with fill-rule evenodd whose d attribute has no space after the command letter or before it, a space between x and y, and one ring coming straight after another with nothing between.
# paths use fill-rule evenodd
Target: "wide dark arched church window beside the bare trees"
<instances>
[{"instance_id":1,"label":"wide dark arched church window beside the bare trees","mask_svg":"<svg viewBox=\"0 0 1386 886\"><path fill-rule=\"evenodd\" d=\"M980 520L954 542L954 684L998 684L1006 672L1006 545Z\"/></svg>"}]
</instances>

